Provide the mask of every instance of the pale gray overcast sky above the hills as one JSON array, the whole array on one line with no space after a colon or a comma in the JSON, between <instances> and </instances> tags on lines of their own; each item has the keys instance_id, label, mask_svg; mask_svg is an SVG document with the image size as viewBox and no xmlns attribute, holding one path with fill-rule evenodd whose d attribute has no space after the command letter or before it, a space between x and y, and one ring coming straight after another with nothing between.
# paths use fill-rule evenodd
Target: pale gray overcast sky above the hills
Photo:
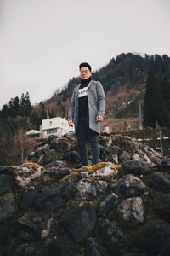
<instances>
[{"instance_id":1,"label":"pale gray overcast sky above the hills","mask_svg":"<svg viewBox=\"0 0 170 256\"><path fill-rule=\"evenodd\" d=\"M170 56L169 0L0 0L0 108L43 101L121 53Z\"/></svg>"}]
</instances>

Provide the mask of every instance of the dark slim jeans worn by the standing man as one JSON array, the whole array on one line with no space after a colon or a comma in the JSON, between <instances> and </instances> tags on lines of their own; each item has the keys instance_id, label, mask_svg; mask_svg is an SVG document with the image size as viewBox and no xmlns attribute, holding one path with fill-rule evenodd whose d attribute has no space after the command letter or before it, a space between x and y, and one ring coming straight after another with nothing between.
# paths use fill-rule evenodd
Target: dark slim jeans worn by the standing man
<instances>
[{"instance_id":1,"label":"dark slim jeans worn by the standing man","mask_svg":"<svg viewBox=\"0 0 170 256\"><path fill-rule=\"evenodd\" d=\"M99 134L89 128L89 118L82 117L78 120L77 145L82 166L88 166L88 151L86 143L90 143L92 148L92 164L99 163Z\"/></svg>"}]
</instances>

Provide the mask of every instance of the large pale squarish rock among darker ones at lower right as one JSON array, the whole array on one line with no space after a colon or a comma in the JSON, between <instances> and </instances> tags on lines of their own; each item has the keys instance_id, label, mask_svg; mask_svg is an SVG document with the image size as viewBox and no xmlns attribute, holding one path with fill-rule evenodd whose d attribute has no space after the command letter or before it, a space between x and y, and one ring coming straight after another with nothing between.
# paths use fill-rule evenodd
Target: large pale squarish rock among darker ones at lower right
<instances>
[{"instance_id":1,"label":"large pale squarish rock among darker ones at lower right","mask_svg":"<svg viewBox=\"0 0 170 256\"><path fill-rule=\"evenodd\" d=\"M140 197L123 200L117 207L118 218L127 225L144 222L144 204Z\"/></svg>"}]
</instances>

